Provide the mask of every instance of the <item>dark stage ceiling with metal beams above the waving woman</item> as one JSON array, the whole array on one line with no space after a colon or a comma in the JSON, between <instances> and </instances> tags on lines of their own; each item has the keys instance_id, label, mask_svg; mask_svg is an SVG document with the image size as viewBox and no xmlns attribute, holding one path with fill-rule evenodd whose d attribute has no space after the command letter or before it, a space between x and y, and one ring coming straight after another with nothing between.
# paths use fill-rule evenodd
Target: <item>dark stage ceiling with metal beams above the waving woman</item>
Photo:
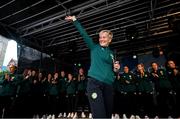
<instances>
[{"instance_id":1,"label":"dark stage ceiling with metal beams above the waving woman","mask_svg":"<svg viewBox=\"0 0 180 119\"><path fill-rule=\"evenodd\" d=\"M95 42L100 30L112 30L111 47L120 55L176 38L169 21L180 15L180 0L0 1L0 25L16 33L18 42L61 60L87 60L88 49L66 15L76 15Z\"/></svg>"}]
</instances>

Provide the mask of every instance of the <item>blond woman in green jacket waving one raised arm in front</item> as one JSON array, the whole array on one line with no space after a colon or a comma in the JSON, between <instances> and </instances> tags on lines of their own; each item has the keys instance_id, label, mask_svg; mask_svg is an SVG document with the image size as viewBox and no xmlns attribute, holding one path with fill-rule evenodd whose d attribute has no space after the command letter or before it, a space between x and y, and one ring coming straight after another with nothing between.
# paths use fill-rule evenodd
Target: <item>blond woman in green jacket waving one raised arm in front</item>
<instances>
[{"instance_id":1,"label":"blond woman in green jacket waving one raised arm in front","mask_svg":"<svg viewBox=\"0 0 180 119\"><path fill-rule=\"evenodd\" d=\"M114 72L120 67L115 64L115 58L109 44L113 33L110 30L102 30L99 33L99 44L95 44L92 38L75 16L67 16L67 21L73 21L80 32L91 55L91 66L88 71L87 95L90 102L93 118L111 118L113 109L113 82Z\"/></svg>"}]
</instances>

